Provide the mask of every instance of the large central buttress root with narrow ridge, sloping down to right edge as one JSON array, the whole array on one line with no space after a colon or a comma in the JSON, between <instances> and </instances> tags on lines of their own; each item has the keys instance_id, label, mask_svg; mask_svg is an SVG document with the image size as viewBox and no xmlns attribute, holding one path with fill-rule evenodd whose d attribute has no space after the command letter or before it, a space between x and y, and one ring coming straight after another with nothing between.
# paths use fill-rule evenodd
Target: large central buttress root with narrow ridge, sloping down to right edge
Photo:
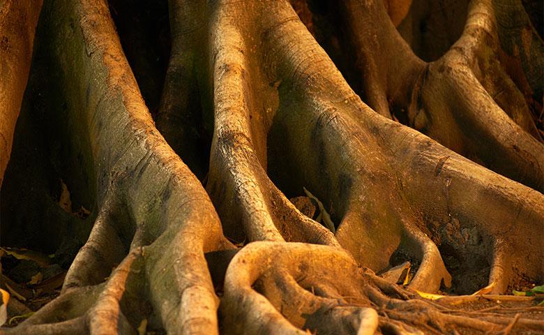
<instances>
[{"instance_id":1,"label":"large central buttress root with narrow ridge, sloping down to right edge","mask_svg":"<svg viewBox=\"0 0 544 335\"><path fill-rule=\"evenodd\" d=\"M449 285L436 243L462 258L479 249L496 292L516 281L516 271L541 278L542 241L529 237L527 248L527 236L542 229L540 193L379 117L345 84L287 3L268 3L274 14L262 16L256 4L245 6L225 3L211 15L216 131L208 189L227 235L236 232L232 223L241 223L250 241L312 241L292 238L315 225L287 215L298 211L276 196L264 174L268 163L283 191L296 194L305 186L325 200L340 245L361 265L385 270L395 251L420 263L414 288ZM237 10L245 21L232 19ZM478 248L467 247L467 231L475 240L468 245Z\"/></svg>"}]
</instances>

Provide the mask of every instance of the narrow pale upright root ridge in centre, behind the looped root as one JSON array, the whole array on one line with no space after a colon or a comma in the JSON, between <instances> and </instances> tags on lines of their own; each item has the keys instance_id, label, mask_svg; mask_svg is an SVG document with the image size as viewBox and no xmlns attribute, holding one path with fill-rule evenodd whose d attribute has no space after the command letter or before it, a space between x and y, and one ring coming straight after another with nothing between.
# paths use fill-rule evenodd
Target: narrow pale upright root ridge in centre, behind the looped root
<instances>
[{"instance_id":1,"label":"narrow pale upright root ridge in centre, behind the looped root","mask_svg":"<svg viewBox=\"0 0 544 335\"><path fill-rule=\"evenodd\" d=\"M245 232L250 241L286 239L338 246L329 230L303 216L266 175L266 119L271 116L256 110L257 93L246 93L250 85L263 84L264 74L246 59L248 49L243 46L249 40L243 40L229 12L220 10L216 20L211 40L216 116L207 188L227 236L241 239ZM273 87L264 95L269 101L262 108L272 112L277 104Z\"/></svg>"}]
</instances>

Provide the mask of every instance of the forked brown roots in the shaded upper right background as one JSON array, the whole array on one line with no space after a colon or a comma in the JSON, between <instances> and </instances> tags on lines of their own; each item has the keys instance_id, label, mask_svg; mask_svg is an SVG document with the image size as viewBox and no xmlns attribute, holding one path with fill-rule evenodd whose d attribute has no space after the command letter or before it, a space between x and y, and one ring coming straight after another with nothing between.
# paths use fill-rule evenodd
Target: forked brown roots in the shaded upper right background
<instances>
[{"instance_id":1,"label":"forked brown roots in the shaded upper right background","mask_svg":"<svg viewBox=\"0 0 544 335\"><path fill-rule=\"evenodd\" d=\"M536 78L544 70L544 43L519 2L471 1L459 40L431 63L410 50L378 0L330 1L330 12L338 15L329 24L340 28L328 33L335 45L322 43L341 54L335 61L350 77L358 74L354 87L373 110L395 114L445 147L542 192L543 137L529 105L543 98ZM515 19L508 18L512 13ZM524 36L526 43L509 36Z\"/></svg>"}]
</instances>

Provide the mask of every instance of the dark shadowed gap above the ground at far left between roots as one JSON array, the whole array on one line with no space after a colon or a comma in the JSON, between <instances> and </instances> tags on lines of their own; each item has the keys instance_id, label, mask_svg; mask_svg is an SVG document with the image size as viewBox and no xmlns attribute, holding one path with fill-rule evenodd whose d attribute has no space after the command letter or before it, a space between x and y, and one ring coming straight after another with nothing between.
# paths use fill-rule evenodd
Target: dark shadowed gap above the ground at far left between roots
<instances>
[{"instance_id":1,"label":"dark shadowed gap above the ground at far left between roots","mask_svg":"<svg viewBox=\"0 0 544 335\"><path fill-rule=\"evenodd\" d=\"M0 194L1 246L55 253L68 268L96 217L93 163L86 131L70 127L67 98L36 34L33 61ZM78 129L75 133L70 129ZM68 205L68 203L69 205Z\"/></svg>"}]
</instances>

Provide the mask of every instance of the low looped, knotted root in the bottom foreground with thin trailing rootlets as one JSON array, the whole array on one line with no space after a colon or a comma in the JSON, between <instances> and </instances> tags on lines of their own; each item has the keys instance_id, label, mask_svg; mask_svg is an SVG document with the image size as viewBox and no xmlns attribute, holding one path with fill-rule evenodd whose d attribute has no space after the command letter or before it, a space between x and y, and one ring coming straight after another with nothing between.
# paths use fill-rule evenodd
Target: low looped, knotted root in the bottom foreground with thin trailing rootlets
<instances>
[{"instance_id":1,"label":"low looped, knotted root in the bottom foreground with thin trailing rootlets","mask_svg":"<svg viewBox=\"0 0 544 335\"><path fill-rule=\"evenodd\" d=\"M536 334L544 325L531 307L514 316L452 302L422 299L335 248L255 242L229 265L221 313L227 334L464 334L499 332L513 320L516 332Z\"/></svg>"}]
</instances>

